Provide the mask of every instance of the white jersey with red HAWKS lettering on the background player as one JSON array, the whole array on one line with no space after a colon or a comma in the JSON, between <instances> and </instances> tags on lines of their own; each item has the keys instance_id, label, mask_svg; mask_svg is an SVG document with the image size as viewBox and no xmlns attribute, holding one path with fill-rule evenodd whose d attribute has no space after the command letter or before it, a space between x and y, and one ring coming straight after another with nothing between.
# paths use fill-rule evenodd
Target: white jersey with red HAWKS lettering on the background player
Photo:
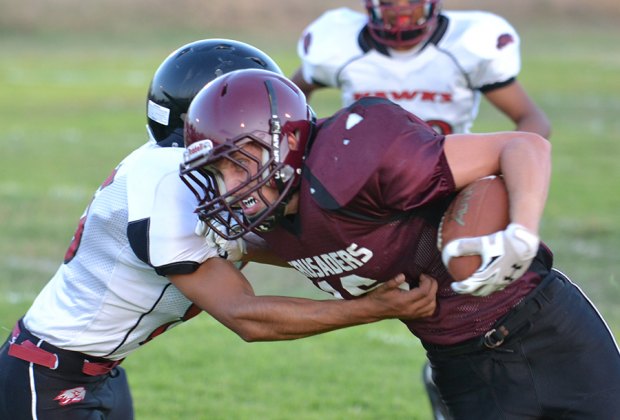
<instances>
[{"instance_id":1,"label":"white jersey with red HAWKS lettering on the background player","mask_svg":"<svg viewBox=\"0 0 620 420\"><path fill-rule=\"evenodd\" d=\"M488 12L444 12L429 42L407 52L377 44L367 22L348 8L330 10L298 42L305 81L339 88L344 106L381 96L439 132L465 133L481 92L512 82L521 67L518 34Z\"/></svg>"}]
</instances>

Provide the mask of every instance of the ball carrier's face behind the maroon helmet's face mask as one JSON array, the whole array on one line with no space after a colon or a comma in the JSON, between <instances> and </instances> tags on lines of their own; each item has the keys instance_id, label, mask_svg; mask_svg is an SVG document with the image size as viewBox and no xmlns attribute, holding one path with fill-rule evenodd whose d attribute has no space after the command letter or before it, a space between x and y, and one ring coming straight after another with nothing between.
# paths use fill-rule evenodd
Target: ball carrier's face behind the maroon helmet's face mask
<instances>
[{"instance_id":1,"label":"ball carrier's face behind the maroon helmet's face mask","mask_svg":"<svg viewBox=\"0 0 620 420\"><path fill-rule=\"evenodd\" d=\"M254 178L262 162L262 151L259 146L248 143L240 152L233 153L230 159L221 159L213 164L213 169L221 177L226 191L239 188L233 197L241 199L241 210L248 217L259 213L268 203L273 203L278 198L277 190L268 185L258 190L252 188L261 181L260 178Z\"/></svg>"}]
</instances>

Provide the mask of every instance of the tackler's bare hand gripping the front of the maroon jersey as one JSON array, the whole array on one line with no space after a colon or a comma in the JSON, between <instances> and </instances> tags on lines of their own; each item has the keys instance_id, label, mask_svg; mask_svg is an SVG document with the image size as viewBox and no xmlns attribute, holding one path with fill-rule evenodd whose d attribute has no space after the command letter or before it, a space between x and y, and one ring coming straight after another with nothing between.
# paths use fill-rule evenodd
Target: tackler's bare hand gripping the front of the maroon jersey
<instances>
[{"instance_id":1,"label":"tackler's bare hand gripping the front of the maroon jersey","mask_svg":"<svg viewBox=\"0 0 620 420\"><path fill-rule=\"evenodd\" d=\"M437 281L432 277L422 274L420 285L409 290L405 276L398 274L368 293L367 297L383 306L386 317L416 319L431 316L435 312L436 293Z\"/></svg>"}]
</instances>

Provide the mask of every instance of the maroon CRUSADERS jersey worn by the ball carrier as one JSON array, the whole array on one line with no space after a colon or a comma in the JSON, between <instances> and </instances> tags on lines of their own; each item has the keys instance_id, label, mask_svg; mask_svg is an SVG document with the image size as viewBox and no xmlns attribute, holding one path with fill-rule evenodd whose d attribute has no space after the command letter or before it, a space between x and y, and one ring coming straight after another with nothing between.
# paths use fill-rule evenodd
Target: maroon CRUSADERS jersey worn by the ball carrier
<instances>
[{"instance_id":1,"label":"maroon CRUSADERS jersey worn by the ball carrier","mask_svg":"<svg viewBox=\"0 0 620 420\"><path fill-rule=\"evenodd\" d=\"M430 318L404 321L420 339L453 344L484 334L540 282L526 274L486 297L450 288L437 227L455 187L444 137L397 105L362 99L320 122L303 170L299 212L261 233L320 289L352 299L404 273L439 282Z\"/></svg>"}]
</instances>

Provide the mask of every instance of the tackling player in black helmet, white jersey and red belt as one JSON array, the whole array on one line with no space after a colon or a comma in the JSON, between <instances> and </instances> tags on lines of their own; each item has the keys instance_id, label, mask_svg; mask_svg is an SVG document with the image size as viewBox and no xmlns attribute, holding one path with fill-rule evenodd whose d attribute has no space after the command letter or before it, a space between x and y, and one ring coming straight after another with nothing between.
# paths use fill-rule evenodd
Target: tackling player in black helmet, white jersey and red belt
<instances>
[{"instance_id":1,"label":"tackling player in black helmet, white jersey and red belt","mask_svg":"<svg viewBox=\"0 0 620 420\"><path fill-rule=\"evenodd\" d=\"M384 318L430 315L436 282L404 277L355 302L255 296L204 236L178 173L183 119L209 81L237 69L280 74L262 51L200 40L157 69L147 97L149 141L101 184L63 264L0 348L1 419L133 418L119 364L176 325L208 312L246 341L289 340ZM198 230L198 234L195 231ZM274 261L260 243L220 242L230 258ZM344 304L343 304L344 303Z\"/></svg>"}]
</instances>

